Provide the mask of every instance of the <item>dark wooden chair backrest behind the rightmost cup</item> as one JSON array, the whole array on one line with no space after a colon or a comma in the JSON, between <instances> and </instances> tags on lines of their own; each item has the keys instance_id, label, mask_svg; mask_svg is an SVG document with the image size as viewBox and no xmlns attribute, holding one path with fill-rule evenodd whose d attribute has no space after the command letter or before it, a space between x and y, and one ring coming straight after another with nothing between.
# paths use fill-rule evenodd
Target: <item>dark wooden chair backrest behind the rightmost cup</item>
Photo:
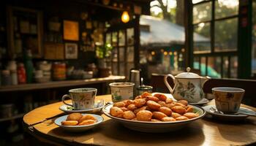
<instances>
[{"instance_id":1,"label":"dark wooden chair backrest behind the rightmost cup","mask_svg":"<svg viewBox=\"0 0 256 146\"><path fill-rule=\"evenodd\" d=\"M256 107L256 80L241 79L211 79L203 85L205 93L212 93L211 88L215 87L236 87L245 90L243 103Z\"/></svg>"}]
</instances>

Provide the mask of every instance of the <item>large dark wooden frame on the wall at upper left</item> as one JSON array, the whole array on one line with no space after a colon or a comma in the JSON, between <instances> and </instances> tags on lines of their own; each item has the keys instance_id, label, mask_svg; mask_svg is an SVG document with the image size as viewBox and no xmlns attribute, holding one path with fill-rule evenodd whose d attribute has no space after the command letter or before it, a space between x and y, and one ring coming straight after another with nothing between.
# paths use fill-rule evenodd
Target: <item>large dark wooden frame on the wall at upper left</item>
<instances>
[{"instance_id":1,"label":"large dark wooden frame on the wall at upper left","mask_svg":"<svg viewBox=\"0 0 256 146\"><path fill-rule=\"evenodd\" d=\"M7 6L9 55L22 56L31 50L33 58L42 58L42 12Z\"/></svg>"}]
</instances>

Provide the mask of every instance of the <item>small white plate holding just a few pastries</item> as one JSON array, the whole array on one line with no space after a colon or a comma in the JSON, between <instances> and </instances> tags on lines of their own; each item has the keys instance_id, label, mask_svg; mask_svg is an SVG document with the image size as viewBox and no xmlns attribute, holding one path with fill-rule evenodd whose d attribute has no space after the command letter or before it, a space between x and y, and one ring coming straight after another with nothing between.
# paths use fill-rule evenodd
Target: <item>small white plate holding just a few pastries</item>
<instances>
[{"instance_id":1,"label":"small white plate holding just a few pastries","mask_svg":"<svg viewBox=\"0 0 256 146\"><path fill-rule=\"evenodd\" d=\"M87 115L87 114L82 114L82 115ZM91 128L94 128L99 123L102 123L102 121L104 120L102 118L102 116L100 116L100 115L94 115L94 114L90 114L90 115L93 115L95 118L97 118L97 122L94 123L94 124L87 125L87 126L62 126L61 122L66 120L68 115L63 115L59 118L56 118L56 120L54 120L54 123L56 123L57 126L60 126L64 130L72 131L72 132L80 132L80 131L86 131L86 130L89 130Z\"/></svg>"}]
</instances>

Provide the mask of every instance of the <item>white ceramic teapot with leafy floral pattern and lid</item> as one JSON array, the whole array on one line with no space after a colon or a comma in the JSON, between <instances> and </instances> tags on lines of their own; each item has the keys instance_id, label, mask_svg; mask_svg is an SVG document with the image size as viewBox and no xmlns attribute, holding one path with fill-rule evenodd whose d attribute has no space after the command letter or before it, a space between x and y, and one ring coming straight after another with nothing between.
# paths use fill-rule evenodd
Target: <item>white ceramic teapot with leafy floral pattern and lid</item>
<instances>
[{"instance_id":1,"label":"white ceramic teapot with leafy floral pattern and lid","mask_svg":"<svg viewBox=\"0 0 256 146\"><path fill-rule=\"evenodd\" d=\"M171 77L174 82L174 88L171 88L167 82L167 77ZM198 74L190 72L187 67L187 72L182 72L173 77L172 74L165 76L165 85L173 94L174 99L185 99L189 102L196 103L205 97L203 93L203 84L209 80L210 77L200 77Z\"/></svg>"}]
</instances>

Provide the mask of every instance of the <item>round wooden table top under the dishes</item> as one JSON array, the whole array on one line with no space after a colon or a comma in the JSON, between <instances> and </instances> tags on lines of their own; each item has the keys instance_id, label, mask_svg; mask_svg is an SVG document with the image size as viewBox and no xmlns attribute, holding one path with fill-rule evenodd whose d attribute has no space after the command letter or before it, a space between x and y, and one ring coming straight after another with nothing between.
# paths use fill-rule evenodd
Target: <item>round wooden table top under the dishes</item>
<instances>
[{"instance_id":1,"label":"round wooden table top under the dishes","mask_svg":"<svg viewBox=\"0 0 256 146\"><path fill-rule=\"evenodd\" d=\"M110 101L111 96L97 96ZM63 114L62 103L39 107L23 117L25 128L38 139L55 145L253 145L256 144L256 118L246 118L241 123L227 123L203 118L189 124L187 128L164 134L149 134L124 128L117 121L102 115L105 119L97 128L82 133L69 133L56 126L55 118ZM211 103L213 104L213 103ZM245 106L245 105L243 105ZM248 106L245 106L248 107ZM254 107L249 107L256 110Z\"/></svg>"}]
</instances>

